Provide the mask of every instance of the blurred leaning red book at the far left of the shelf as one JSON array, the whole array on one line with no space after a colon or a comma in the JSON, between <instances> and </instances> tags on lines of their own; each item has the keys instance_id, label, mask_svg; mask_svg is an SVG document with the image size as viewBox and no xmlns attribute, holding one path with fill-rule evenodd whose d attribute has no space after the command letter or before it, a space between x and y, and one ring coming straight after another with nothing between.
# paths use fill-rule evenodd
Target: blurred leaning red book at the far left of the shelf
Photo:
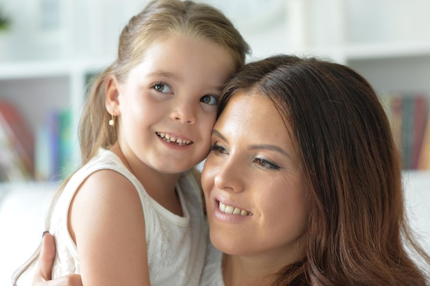
<instances>
[{"instance_id":1,"label":"blurred leaning red book at the far left of the shelf","mask_svg":"<svg viewBox=\"0 0 430 286\"><path fill-rule=\"evenodd\" d=\"M34 135L21 112L0 100L0 181L30 180L34 175Z\"/></svg>"}]
</instances>

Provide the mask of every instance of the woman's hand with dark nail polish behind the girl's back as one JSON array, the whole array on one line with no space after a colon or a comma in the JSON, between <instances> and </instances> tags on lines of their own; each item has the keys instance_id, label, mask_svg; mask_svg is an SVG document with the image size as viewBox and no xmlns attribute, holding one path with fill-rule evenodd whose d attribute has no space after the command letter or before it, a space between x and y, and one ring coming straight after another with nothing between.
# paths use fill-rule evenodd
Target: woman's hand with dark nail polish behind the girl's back
<instances>
[{"instance_id":1,"label":"woman's hand with dark nail polish behind the girl's back","mask_svg":"<svg viewBox=\"0 0 430 286\"><path fill-rule=\"evenodd\" d=\"M41 255L34 271L32 286L82 286L80 275L69 274L51 280L52 264L55 258L55 239L50 233L45 233L42 239Z\"/></svg>"}]
</instances>

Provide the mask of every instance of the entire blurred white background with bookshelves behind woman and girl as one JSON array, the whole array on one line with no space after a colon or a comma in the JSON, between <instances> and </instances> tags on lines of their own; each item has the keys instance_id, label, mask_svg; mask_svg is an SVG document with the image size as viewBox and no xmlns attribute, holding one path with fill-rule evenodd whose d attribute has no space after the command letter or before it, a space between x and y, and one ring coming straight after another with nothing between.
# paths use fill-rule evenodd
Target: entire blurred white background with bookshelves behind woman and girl
<instances>
[{"instance_id":1,"label":"entire blurred white background with bookshelves behind woman and girl","mask_svg":"<svg viewBox=\"0 0 430 286\"><path fill-rule=\"evenodd\" d=\"M198 2L231 19L251 45L248 60L330 58L370 81L402 152L409 217L430 251L430 1ZM85 88L146 3L0 0L0 285L40 242L49 200L79 163Z\"/></svg>"}]
</instances>

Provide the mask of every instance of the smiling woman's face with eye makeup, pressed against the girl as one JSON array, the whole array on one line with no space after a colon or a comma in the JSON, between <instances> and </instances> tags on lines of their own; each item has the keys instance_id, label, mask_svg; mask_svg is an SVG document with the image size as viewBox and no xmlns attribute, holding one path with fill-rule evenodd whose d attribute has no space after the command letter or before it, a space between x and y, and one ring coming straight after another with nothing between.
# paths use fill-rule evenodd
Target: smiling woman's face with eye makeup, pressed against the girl
<instances>
[{"instance_id":1,"label":"smiling woman's face with eye makeup, pressed against the girl","mask_svg":"<svg viewBox=\"0 0 430 286\"><path fill-rule=\"evenodd\" d=\"M223 110L202 174L210 238L219 250L299 259L308 206L290 130L264 95L238 93Z\"/></svg>"}]
</instances>

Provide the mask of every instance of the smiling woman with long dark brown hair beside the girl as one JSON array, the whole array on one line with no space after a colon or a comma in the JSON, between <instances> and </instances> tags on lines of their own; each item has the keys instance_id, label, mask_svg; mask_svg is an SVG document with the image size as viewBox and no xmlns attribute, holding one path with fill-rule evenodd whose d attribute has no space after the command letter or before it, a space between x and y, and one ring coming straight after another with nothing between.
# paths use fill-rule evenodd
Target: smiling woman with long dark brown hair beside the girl
<instances>
[{"instance_id":1,"label":"smiling woman with long dark brown hair beside the girl","mask_svg":"<svg viewBox=\"0 0 430 286\"><path fill-rule=\"evenodd\" d=\"M387 117L348 67L275 56L238 71L202 185L221 251L210 248L202 285L429 283Z\"/></svg>"}]
</instances>

